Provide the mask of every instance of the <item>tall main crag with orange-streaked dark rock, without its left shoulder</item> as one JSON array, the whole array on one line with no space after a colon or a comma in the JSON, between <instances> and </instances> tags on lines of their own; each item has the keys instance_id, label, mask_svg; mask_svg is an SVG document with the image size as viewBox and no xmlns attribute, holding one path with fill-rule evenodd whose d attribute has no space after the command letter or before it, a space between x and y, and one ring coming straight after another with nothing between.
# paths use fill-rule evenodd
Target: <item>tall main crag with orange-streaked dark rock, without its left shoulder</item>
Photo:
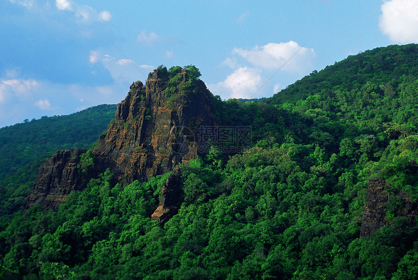
<instances>
[{"instance_id":1,"label":"tall main crag with orange-streaked dark rock, without its left shoulder","mask_svg":"<svg viewBox=\"0 0 418 280\"><path fill-rule=\"evenodd\" d=\"M186 69L182 69L183 75ZM96 154L101 172L110 168L118 181L130 184L187 164L198 154L197 131L214 126L210 96L204 82L199 93L168 100L167 78L160 69L142 82L131 85L128 96L118 104L115 120L100 136Z\"/></svg>"}]
</instances>

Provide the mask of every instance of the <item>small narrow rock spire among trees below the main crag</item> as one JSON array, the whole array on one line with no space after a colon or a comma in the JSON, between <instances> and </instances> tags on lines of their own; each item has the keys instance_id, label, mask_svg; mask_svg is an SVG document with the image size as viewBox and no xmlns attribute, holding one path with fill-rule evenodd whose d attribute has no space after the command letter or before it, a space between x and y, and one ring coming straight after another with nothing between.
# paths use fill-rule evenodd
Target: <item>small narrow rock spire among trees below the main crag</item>
<instances>
[{"instance_id":1,"label":"small narrow rock spire among trees below the main crag","mask_svg":"<svg viewBox=\"0 0 418 280\"><path fill-rule=\"evenodd\" d=\"M174 168L161 189L161 197L159 205L154 214L151 215L152 220L156 220L161 224L167 222L173 215L177 214L177 199L180 193L180 166Z\"/></svg>"}]
</instances>

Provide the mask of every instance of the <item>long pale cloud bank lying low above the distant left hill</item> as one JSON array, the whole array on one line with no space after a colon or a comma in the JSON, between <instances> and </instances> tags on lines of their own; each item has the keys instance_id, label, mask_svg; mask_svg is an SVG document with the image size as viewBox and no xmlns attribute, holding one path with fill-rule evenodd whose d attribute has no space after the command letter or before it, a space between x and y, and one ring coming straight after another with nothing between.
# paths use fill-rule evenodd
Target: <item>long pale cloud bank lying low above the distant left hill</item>
<instances>
[{"instance_id":1,"label":"long pale cloud bank lying low above the distant left hill","mask_svg":"<svg viewBox=\"0 0 418 280\"><path fill-rule=\"evenodd\" d=\"M116 104L124 99L136 78L124 84L81 86L0 77L0 127L42 115L71 114L80 106Z\"/></svg>"}]
</instances>

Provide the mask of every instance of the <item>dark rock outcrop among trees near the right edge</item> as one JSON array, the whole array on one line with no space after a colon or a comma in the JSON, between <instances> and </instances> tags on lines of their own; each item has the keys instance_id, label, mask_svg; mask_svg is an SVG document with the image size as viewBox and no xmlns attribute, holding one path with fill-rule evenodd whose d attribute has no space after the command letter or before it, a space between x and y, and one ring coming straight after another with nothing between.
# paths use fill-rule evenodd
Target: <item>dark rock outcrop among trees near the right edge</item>
<instances>
[{"instance_id":1,"label":"dark rock outcrop among trees near the right edge","mask_svg":"<svg viewBox=\"0 0 418 280\"><path fill-rule=\"evenodd\" d=\"M395 211L395 216L408 217L416 224L417 204L404 191L395 189L390 194L386 186L388 185L383 178L369 179L360 237L370 236L385 225L390 226L391 219L386 217L386 210L391 195L399 197L401 201L401 207Z\"/></svg>"}]
</instances>

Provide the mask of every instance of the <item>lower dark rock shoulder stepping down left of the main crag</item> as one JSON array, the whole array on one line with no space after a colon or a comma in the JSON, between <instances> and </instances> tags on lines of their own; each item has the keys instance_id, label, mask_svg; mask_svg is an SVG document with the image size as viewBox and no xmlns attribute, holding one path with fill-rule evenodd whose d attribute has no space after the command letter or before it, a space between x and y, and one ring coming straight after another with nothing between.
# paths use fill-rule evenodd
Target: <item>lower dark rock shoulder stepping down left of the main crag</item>
<instances>
[{"instance_id":1,"label":"lower dark rock shoulder stepping down left of the main crag","mask_svg":"<svg viewBox=\"0 0 418 280\"><path fill-rule=\"evenodd\" d=\"M65 202L73 190L86 186L86 179L78 174L77 165L80 155L86 149L56 151L56 153L39 168L31 194L27 198L26 209L35 204L56 210Z\"/></svg>"}]
</instances>

